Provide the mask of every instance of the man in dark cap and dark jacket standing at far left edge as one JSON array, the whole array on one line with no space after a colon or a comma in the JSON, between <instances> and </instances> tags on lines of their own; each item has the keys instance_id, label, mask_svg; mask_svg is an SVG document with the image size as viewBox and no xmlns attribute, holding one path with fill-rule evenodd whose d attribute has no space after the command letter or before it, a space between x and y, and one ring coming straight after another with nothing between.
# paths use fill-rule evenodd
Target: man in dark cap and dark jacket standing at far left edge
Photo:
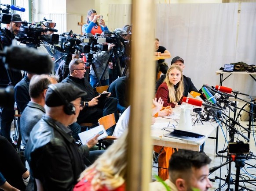
<instances>
[{"instance_id":1,"label":"man in dark cap and dark jacket standing at far left edge","mask_svg":"<svg viewBox=\"0 0 256 191\"><path fill-rule=\"evenodd\" d=\"M17 36L20 26L22 25L22 19L19 14L11 15L11 23L6 24L6 28L0 29L0 39L3 42L3 48L5 46L11 46L11 42ZM11 71L4 67L3 63L0 63L0 87L7 87L7 85L15 86L22 79L21 71ZM14 117L14 102L13 106L2 107L1 121L0 121L0 135L7 138L11 142L11 122Z\"/></svg>"}]
</instances>

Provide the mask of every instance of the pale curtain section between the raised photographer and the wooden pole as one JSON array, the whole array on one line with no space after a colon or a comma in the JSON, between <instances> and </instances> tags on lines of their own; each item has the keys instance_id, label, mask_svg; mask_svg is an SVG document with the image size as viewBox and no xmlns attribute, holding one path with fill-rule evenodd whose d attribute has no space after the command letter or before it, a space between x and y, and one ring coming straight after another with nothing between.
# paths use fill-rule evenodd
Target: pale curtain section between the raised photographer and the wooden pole
<instances>
[{"instance_id":1,"label":"pale curtain section between the raised photographer and the wooden pole","mask_svg":"<svg viewBox=\"0 0 256 191\"><path fill-rule=\"evenodd\" d=\"M123 28L124 25L131 25L131 4L110 4L108 13L108 28L113 31L116 28Z\"/></svg>"}]
</instances>

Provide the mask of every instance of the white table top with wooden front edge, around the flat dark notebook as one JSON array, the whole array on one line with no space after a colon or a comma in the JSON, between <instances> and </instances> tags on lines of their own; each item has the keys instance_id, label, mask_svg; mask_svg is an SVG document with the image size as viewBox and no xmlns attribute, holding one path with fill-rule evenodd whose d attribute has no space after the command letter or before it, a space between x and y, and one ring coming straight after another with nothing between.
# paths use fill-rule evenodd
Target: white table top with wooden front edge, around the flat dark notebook
<instances>
[{"instance_id":1,"label":"white table top with wooden front edge, around the flat dark notebook","mask_svg":"<svg viewBox=\"0 0 256 191\"><path fill-rule=\"evenodd\" d=\"M175 108L175 113L179 113L179 109ZM179 123L179 120L176 121ZM193 126L191 132L205 135L204 138L200 138L196 142L164 137L163 135L167 134L168 131L165 131L163 128L167 126L172 126L172 124L177 125L176 121L163 117L156 118L156 122L151 126L151 137L153 138L153 145L200 151L201 145L209 137L212 131L214 131L215 128L218 126L218 124L216 124L215 122L210 121L203 122L203 124L201 124L200 122L196 123L195 126ZM172 129L168 127L167 130L170 131Z\"/></svg>"}]
</instances>

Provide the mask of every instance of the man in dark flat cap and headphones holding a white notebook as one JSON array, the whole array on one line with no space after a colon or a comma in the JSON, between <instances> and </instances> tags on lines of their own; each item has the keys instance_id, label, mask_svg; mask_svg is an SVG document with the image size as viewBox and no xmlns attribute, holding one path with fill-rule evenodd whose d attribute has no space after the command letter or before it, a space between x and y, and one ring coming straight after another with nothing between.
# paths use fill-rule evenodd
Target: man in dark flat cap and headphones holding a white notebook
<instances>
[{"instance_id":1,"label":"man in dark flat cap and headphones holding a white notebook","mask_svg":"<svg viewBox=\"0 0 256 191\"><path fill-rule=\"evenodd\" d=\"M25 155L37 188L43 190L73 190L85 169L83 159L97 143L99 134L79 147L68 128L77 121L81 96L86 92L71 84L51 84L45 96L46 114L33 127Z\"/></svg>"}]
</instances>

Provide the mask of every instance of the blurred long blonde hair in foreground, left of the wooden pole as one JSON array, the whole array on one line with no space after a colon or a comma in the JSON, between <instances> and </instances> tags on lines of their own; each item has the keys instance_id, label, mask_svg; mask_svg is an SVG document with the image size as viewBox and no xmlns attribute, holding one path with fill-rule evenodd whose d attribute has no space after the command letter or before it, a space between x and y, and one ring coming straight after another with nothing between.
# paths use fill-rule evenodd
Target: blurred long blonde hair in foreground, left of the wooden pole
<instances>
[{"instance_id":1,"label":"blurred long blonde hair in foreground, left of the wooden pole","mask_svg":"<svg viewBox=\"0 0 256 191\"><path fill-rule=\"evenodd\" d=\"M113 190L124 184L127 176L127 135L128 130L81 173L79 180L92 176L91 186L94 190L103 186Z\"/></svg>"}]
</instances>

